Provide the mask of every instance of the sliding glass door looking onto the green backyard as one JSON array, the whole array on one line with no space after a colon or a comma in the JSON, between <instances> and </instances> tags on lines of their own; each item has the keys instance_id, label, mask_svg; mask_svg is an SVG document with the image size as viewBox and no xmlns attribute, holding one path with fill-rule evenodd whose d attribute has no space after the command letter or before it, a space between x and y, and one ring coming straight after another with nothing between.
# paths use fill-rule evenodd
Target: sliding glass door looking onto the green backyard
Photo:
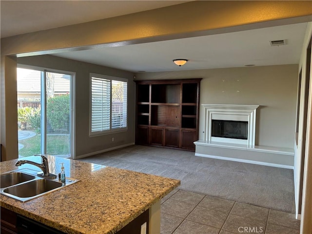
<instances>
[{"instance_id":1,"label":"sliding glass door looking onto the green backyard","mask_svg":"<svg viewBox=\"0 0 312 234\"><path fill-rule=\"evenodd\" d=\"M18 68L19 156L73 154L73 74Z\"/></svg>"}]
</instances>

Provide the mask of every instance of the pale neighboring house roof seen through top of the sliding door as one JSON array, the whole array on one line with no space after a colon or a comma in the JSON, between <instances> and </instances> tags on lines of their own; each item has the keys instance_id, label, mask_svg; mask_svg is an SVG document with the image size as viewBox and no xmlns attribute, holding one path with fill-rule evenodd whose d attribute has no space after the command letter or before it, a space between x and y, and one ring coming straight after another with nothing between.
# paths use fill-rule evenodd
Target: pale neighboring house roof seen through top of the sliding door
<instances>
[{"instance_id":1,"label":"pale neighboring house roof seen through top of the sliding door","mask_svg":"<svg viewBox=\"0 0 312 234\"><path fill-rule=\"evenodd\" d=\"M70 75L54 74L54 93L67 93L70 91ZM18 76L19 94L40 93L40 71L33 71L25 76Z\"/></svg>"}]
</instances>

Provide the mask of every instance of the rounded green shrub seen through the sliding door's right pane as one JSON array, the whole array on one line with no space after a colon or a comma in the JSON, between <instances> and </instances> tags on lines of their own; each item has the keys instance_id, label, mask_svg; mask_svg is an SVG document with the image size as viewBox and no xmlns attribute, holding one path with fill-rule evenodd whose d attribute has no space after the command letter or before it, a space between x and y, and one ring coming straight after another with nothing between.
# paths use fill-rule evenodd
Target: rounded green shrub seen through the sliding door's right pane
<instances>
[{"instance_id":1,"label":"rounded green shrub seen through the sliding door's right pane","mask_svg":"<svg viewBox=\"0 0 312 234\"><path fill-rule=\"evenodd\" d=\"M47 100L47 121L54 131L69 133L69 95L59 95Z\"/></svg>"}]
</instances>

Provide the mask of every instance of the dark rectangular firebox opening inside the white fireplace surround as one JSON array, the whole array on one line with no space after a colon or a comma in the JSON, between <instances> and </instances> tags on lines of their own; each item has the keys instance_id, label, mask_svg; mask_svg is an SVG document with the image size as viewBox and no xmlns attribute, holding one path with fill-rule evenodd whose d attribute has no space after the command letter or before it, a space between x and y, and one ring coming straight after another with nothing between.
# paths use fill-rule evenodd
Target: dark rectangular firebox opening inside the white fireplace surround
<instances>
[{"instance_id":1,"label":"dark rectangular firebox opening inside the white fireplace surround","mask_svg":"<svg viewBox=\"0 0 312 234\"><path fill-rule=\"evenodd\" d=\"M248 121L212 119L212 137L248 139Z\"/></svg>"}]
</instances>

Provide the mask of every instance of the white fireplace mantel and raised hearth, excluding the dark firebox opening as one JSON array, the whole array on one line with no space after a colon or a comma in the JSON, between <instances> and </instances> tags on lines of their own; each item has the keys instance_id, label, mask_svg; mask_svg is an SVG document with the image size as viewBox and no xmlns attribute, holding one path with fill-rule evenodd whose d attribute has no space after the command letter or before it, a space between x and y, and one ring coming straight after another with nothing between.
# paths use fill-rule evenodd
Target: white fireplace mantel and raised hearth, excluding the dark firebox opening
<instances>
[{"instance_id":1,"label":"white fireplace mantel and raised hearth, excluding the dark firebox opening","mask_svg":"<svg viewBox=\"0 0 312 234\"><path fill-rule=\"evenodd\" d=\"M258 105L202 104L202 107L205 135L194 142L195 156L293 169L293 149L255 145ZM248 139L211 137L212 119L248 121Z\"/></svg>"}]
</instances>

